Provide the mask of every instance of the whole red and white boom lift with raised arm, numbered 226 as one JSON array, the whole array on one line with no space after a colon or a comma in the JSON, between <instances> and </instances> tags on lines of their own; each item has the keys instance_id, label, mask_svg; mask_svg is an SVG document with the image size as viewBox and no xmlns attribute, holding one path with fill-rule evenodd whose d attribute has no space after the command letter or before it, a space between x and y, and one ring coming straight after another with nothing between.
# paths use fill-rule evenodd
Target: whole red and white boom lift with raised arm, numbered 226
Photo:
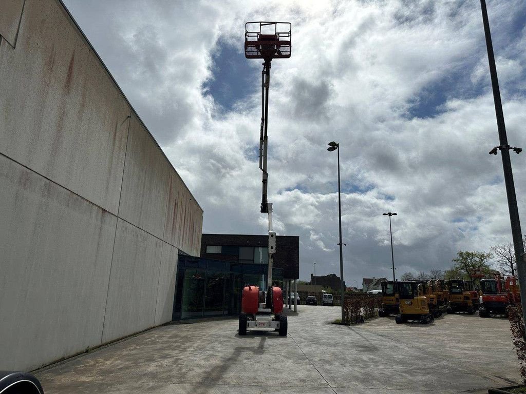
<instances>
[{"instance_id":1,"label":"whole red and white boom lift with raised arm, numbered 226","mask_svg":"<svg viewBox=\"0 0 526 394\"><path fill-rule=\"evenodd\" d=\"M267 201L268 90L270 62L290 57L290 23L248 22L245 24L245 57L264 59L261 72L261 128L259 136L259 169L263 172L261 213L268 213L268 274L266 292L258 286L246 286L241 298L239 335L250 328L270 328L287 335L287 316L283 312L281 288L272 286L272 263L276 253L276 233L272 231L272 204Z\"/></svg>"}]
</instances>

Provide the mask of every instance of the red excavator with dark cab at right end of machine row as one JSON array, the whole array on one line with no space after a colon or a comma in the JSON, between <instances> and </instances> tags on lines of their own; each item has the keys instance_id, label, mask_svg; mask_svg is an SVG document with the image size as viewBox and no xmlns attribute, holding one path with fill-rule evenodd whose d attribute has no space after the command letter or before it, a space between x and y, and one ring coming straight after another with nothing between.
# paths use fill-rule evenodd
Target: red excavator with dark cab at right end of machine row
<instances>
[{"instance_id":1,"label":"red excavator with dark cab at right end of machine row","mask_svg":"<svg viewBox=\"0 0 526 394\"><path fill-rule=\"evenodd\" d=\"M482 306L479 309L480 317L493 315L507 315L507 307L520 303L519 285L512 276L502 279L495 275L494 279L480 281L482 292Z\"/></svg>"}]
</instances>

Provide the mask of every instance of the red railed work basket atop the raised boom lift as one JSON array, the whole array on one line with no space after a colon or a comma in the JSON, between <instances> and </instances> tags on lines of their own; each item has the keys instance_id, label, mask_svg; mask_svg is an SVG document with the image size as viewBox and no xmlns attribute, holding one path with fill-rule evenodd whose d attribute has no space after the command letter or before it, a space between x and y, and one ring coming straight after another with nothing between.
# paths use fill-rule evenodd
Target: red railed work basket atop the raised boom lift
<instances>
[{"instance_id":1,"label":"red railed work basket atop the raised boom lift","mask_svg":"<svg viewBox=\"0 0 526 394\"><path fill-rule=\"evenodd\" d=\"M245 57L248 59L286 59L290 57L289 22L247 22Z\"/></svg>"}]
</instances>

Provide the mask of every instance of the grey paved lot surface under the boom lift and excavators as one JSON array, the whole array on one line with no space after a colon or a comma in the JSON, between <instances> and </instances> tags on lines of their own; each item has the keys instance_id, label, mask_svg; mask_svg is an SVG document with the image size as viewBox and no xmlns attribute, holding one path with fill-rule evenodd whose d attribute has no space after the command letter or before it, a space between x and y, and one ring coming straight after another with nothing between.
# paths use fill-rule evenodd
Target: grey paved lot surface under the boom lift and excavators
<instances>
[{"instance_id":1,"label":"grey paved lot surface under the boom lift and excavators","mask_svg":"<svg viewBox=\"0 0 526 394\"><path fill-rule=\"evenodd\" d=\"M240 337L234 319L171 324L34 373L46 394L487 393L520 380L507 319L330 324L339 314L300 305L287 337Z\"/></svg>"}]
</instances>

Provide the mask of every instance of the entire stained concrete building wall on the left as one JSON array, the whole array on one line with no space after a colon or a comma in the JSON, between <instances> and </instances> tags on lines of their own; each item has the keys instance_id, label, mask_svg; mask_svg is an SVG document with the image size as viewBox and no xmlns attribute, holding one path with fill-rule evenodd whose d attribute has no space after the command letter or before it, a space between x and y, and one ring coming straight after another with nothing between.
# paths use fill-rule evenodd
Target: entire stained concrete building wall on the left
<instances>
[{"instance_id":1,"label":"entire stained concrete building wall on the left","mask_svg":"<svg viewBox=\"0 0 526 394\"><path fill-rule=\"evenodd\" d=\"M0 2L0 370L171 319L203 211L58 0Z\"/></svg>"}]
</instances>

